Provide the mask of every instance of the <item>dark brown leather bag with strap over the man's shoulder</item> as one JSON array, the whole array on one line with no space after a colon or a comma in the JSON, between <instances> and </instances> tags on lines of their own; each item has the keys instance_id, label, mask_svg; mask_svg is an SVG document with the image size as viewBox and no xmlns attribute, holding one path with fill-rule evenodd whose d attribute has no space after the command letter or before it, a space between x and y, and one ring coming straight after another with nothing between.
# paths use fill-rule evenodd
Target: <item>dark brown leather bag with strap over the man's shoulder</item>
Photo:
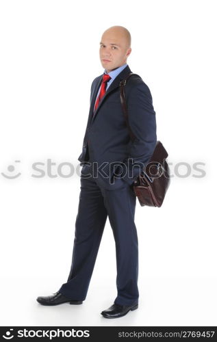
<instances>
[{"instance_id":1,"label":"dark brown leather bag with strap over the man's shoulder","mask_svg":"<svg viewBox=\"0 0 217 342\"><path fill-rule=\"evenodd\" d=\"M127 78L120 81L120 102L123 107L123 113L127 127L129 129L129 135L131 140L135 138L131 128L129 127L129 119L127 114L127 103L125 99L124 86L127 79L134 73L129 73ZM139 76L140 77L140 76ZM147 205L149 207L161 207L164 201L164 197L170 185L170 170L166 158L168 153L164 148L162 142L157 140L153 155L151 156L149 163L146 165L143 172L137 177L133 183L133 191L136 194L140 205L143 207Z\"/></svg>"}]
</instances>

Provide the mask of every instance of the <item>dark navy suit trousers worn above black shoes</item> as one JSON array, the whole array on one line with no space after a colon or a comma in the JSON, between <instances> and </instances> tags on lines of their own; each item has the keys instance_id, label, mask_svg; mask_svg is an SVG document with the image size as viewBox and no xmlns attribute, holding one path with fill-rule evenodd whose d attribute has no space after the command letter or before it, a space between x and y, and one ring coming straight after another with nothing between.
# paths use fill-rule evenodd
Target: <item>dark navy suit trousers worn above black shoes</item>
<instances>
[{"instance_id":1,"label":"dark navy suit trousers worn above black shoes","mask_svg":"<svg viewBox=\"0 0 217 342\"><path fill-rule=\"evenodd\" d=\"M91 176L86 178L85 174ZM136 195L127 182L118 181L123 185L120 189L103 189L94 179L89 165L84 165L81 170L71 270L67 282L59 289L71 300L86 299L108 216L116 248L117 296L114 303L133 305L138 302Z\"/></svg>"}]
</instances>

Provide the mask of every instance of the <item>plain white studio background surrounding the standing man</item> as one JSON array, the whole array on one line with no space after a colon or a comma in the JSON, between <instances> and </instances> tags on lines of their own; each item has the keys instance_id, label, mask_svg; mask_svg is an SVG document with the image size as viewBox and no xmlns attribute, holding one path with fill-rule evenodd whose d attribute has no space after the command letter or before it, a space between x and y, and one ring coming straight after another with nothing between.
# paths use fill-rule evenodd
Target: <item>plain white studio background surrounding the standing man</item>
<instances>
[{"instance_id":1,"label":"plain white studio background surrounding the standing man","mask_svg":"<svg viewBox=\"0 0 217 342\"><path fill-rule=\"evenodd\" d=\"M216 326L215 5L0 2L0 172L21 172L0 174L1 326ZM139 308L111 321L100 315L116 298L108 220L84 304L47 307L36 298L58 291L70 270L79 174L64 178L58 166L79 165L90 86L103 73L99 42L112 25L131 32L127 62L151 90L173 179L161 208L137 202ZM44 177L32 176L35 162ZM178 163L188 163L188 176Z\"/></svg>"}]
</instances>

